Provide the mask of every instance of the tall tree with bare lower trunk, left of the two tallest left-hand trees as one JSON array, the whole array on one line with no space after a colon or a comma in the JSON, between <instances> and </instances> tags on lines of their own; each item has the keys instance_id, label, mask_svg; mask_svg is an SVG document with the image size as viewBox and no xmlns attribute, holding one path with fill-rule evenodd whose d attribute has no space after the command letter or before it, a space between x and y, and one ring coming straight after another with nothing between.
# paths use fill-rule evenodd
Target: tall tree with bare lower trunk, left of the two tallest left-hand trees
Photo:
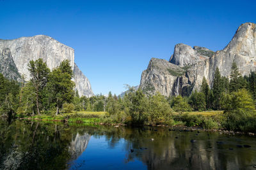
<instances>
[{"instance_id":1,"label":"tall tree with bare lower trunk, left of the two tallest left-hand trees","mask_svg":"<svg viewBox=\"0 0 256 170\"><path fill-rule=\"evenodd\" d=\"M42 60L31 60L28 64L28 70L31 76L31 82L33 83L36 90L36 110L40 115L40 99L42 99L42 91L48 81L50 69L47 64Z\"/></svg>"}]
</instances>

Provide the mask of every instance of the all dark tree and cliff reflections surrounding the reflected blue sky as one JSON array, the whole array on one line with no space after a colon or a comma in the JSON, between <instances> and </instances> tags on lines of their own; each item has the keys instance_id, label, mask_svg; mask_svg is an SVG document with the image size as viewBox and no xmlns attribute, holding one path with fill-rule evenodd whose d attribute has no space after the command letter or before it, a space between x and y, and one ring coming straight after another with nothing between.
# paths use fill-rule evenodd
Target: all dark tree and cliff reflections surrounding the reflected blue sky
<instances>
[{"instance_id":1,"label":"all dark tree and cliff reflections surrounding the reflected blue sky","mask_svg":"<svg viewBox=\"0 0 256 170\"><path fill-rule=\"evenodd\" d=\"M120 139L124 139L125 162L138 159L148 169L241 169L256 162L255 152L247 152L247 148L228 150L238 144L232 141L234 138L216 133L210 136L204 132L195 134L168 129L85 128L42 122L15 121L8 125L0 121L0 169L11 166L14 167L11 169L65 169L69 160L77 159L84 152L90 136L104 136L109 148L115 148ZM196 142L191 143L191 139ZM226 144L228 142L230 144ZM131 149L134 152L131 153ZM6 162L8 156L10 162Z\"/></svg>"}]
</instances>

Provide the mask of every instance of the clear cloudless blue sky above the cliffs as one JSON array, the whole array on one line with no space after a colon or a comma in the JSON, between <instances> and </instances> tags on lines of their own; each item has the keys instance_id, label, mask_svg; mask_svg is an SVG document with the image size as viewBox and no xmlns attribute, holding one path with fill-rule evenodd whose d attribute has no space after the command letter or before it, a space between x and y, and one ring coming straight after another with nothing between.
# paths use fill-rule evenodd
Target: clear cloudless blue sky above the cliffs
<instances>
[{"instance_id":1,"label":"clear cloudless blue sky above the cliffs","mask_svg":"<svg viewBox=\"0 0 256 170\"><path fill-rule=\"evenodd\" d=\"M120 94L177 43L221 50L239 25L256 22L255 8L256 1L0 0L0 39L51 36L75 49L95 94Z\"/></svg>"}]
</instances>

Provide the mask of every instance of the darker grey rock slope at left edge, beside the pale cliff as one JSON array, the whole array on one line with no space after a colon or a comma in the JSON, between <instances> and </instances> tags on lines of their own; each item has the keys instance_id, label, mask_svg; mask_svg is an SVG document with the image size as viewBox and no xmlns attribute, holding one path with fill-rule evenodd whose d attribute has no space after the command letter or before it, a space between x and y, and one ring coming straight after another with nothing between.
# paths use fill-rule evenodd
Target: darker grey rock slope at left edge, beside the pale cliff
<instances>
[{"instance_id":1,"label":"darker grey rock slope at left edge, beside the pale cliff","mask_svg":"<svg viewBox=\"0 0 256 170\"><path fill-rule=\"evenodd\" d=\"M0 50L0 73L10 80L20 81L20 74L9 48L4 48L2 52Z\"/></svg>"}]
</instances>

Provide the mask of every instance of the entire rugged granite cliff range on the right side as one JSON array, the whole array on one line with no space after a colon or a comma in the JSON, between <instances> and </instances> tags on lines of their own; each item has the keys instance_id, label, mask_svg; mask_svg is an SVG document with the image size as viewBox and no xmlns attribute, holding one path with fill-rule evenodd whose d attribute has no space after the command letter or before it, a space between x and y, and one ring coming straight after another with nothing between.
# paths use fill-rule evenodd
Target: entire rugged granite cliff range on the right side
<instances>
[{"instance_id":1,"label":"entire rugged granite cliff range on the right side","mask_svg":"<svg viewBox=\"0 0 256 170\"><path fill-rule=\"evenodd\" d=\"M230 76L232 62L241 74L256 70L256 24L242 24L228 45L213 52L205 47L175 45L170 60L152 58L141 74L140 88L147 94L160 92L164 96L186 96L199 90L202 79L212 87L218 67L221 76Z\"/></svg>"}]
</instances>

